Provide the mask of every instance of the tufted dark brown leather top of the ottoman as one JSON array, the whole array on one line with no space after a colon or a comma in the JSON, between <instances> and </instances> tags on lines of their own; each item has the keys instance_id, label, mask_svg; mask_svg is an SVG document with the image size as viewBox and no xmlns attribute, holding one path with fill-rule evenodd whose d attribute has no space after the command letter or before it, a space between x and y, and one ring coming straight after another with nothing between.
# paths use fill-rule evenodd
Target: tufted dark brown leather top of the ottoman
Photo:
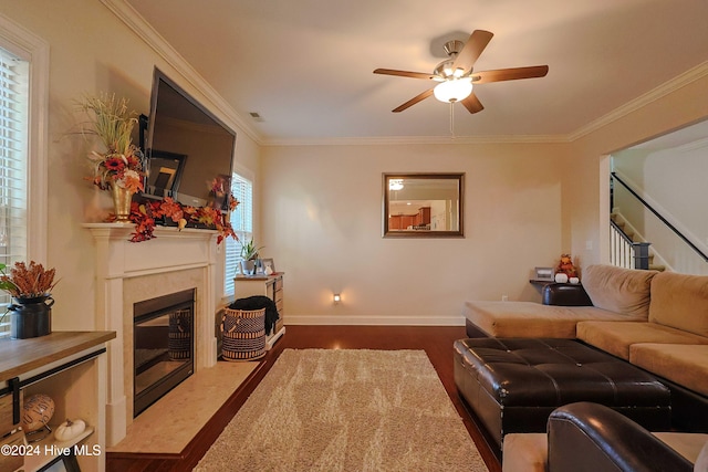
<instances>
[{"instance_id":1,"label":"tufted dark brown leather top of the ottoman","mask_svg":"<svg viewBox=\"0 0 708 472\"><path fill-rule=\"evenodd\" d=\"M473 338L454 346L468 374L501 407L669 407L666 386L631 364L572 339Z\"/></svg>"}]
</instances>

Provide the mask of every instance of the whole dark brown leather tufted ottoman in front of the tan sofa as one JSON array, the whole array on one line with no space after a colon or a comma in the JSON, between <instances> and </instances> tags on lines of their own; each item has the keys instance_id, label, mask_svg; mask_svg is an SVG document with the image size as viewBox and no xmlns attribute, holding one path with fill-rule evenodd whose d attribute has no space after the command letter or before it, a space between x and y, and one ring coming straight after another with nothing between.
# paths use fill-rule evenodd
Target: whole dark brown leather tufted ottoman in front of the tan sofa
<instances>
[{"instance_id":1,"label":"whole dark brown leather tufted ottoman in front of the tan sofa","mask_svg":"<svg viewBox=\"0 0 708 472\"><path fill-rule=\"evenodd\" d=\"M500 448L504 434L544 432L551 411L575 401L605 405L650 431L670 428L668 388L573 339L459 339L454 357L458 391Z\"/></svg>"}]
</instances>

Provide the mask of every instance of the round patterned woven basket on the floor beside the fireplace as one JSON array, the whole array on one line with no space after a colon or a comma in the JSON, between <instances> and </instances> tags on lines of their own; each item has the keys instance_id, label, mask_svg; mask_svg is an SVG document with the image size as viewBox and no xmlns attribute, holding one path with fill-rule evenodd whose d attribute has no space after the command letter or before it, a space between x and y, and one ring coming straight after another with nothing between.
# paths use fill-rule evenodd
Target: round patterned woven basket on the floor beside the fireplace
<instances>
[{"instance_id":1,"label":"round patterned woven basket on the floor beside the fireplace","mask_svg":"<svg viewBox=\"0 0 708 472\"><path fill-rule=\"evenodd\" d=\"M266 355L266 308L226 308L221 319L225 360L253 360Z\"/></svg>"}]
</instances>

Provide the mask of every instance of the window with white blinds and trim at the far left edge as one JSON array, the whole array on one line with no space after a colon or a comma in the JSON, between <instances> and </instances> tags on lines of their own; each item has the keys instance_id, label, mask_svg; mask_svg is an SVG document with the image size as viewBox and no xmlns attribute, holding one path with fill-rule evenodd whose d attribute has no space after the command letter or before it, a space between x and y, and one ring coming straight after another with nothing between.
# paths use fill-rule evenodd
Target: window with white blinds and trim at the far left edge
<instances>
[{"instance_id":1,"label":"window with white blinds and trim at the far left edge","mask_svg":"<svg viewBox=\"0 0 708 472\"><path fill-rule=\"evenodd\" d=\"M0 15L0 262L46 264L49 44ZM10 297L0 295L0 312ZM10 317L0 321L9 335Z\"/></svg>"}]
</instances>

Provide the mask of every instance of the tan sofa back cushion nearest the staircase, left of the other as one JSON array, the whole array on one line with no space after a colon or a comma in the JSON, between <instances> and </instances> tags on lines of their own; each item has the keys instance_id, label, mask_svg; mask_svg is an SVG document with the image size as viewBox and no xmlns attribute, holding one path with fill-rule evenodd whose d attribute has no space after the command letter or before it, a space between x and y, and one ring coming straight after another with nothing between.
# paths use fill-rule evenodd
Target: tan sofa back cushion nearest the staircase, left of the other
<instances>
[{"instance_id":1,"label":"tan sofa back cushion nearest the staircase, left of the other","mask_svg":"<svg viewBox=\"0 0 708 472\"><path fill-rule=\"evenodd\" d=\"M590 265L583 275L583 287L594 306L647 319L652 279L657 273L614 265Z\"/></svg>"}]
</instances>

